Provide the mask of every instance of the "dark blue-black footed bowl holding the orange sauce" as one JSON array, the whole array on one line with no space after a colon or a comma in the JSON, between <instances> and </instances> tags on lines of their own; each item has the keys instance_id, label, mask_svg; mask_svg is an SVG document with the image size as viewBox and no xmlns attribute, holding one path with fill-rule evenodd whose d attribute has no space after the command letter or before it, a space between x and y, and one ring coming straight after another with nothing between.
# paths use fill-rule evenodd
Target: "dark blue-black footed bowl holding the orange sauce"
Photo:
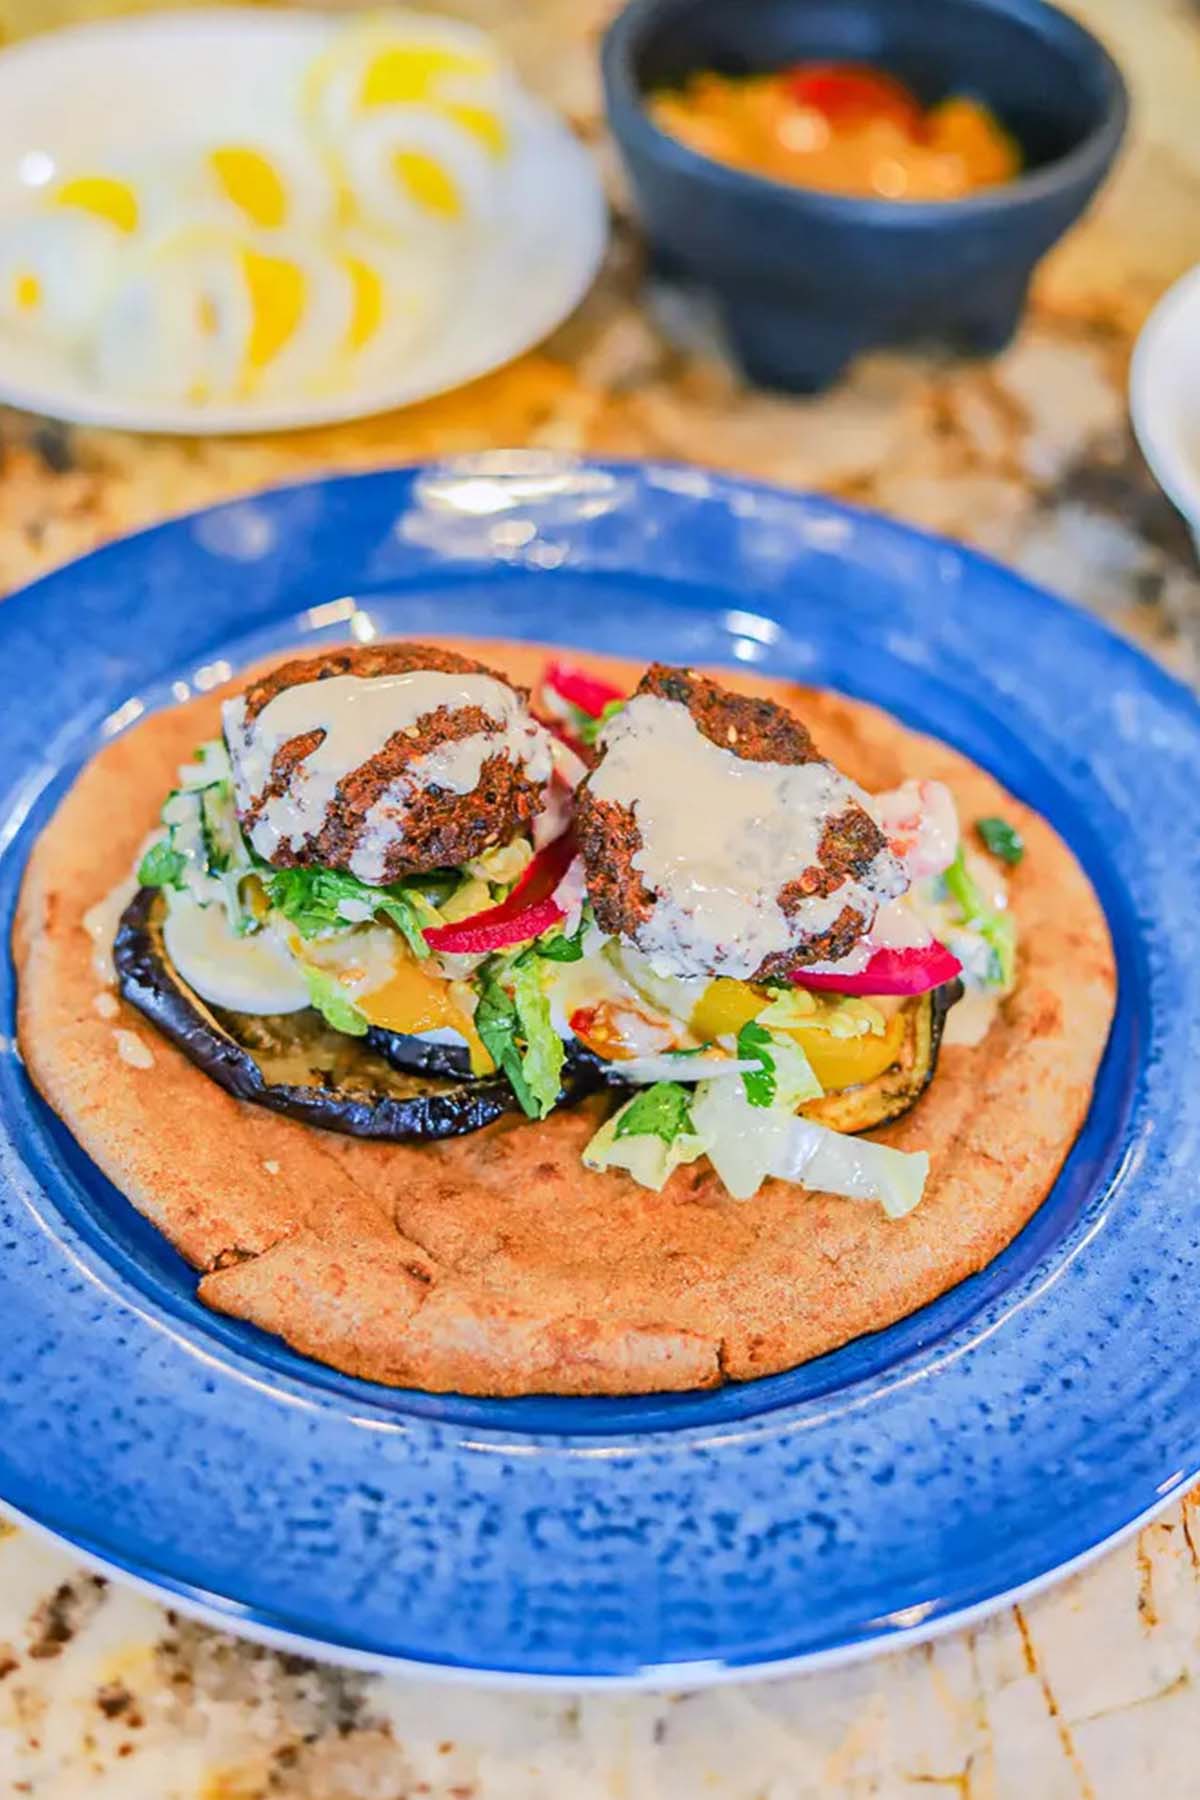
<instances>
[{"instance_id":1,"label":"dark blue-black footed bowl holding the orange sauce","mask_svg":"<svg viewBox=\"0 0 1200 1800\"><path fill-rule=\"evenodd\" d=\"M808 59L876 63L927 104L979 95L1024 173L964 200L824 194L702 157L646 110L698 68ZM604 41L604 92L655 266L716 297L752 380L804 392L878 344L1000 349L1128 115L1108 52L1042 0L633 0Z\"/></svg>"}]
</instances>

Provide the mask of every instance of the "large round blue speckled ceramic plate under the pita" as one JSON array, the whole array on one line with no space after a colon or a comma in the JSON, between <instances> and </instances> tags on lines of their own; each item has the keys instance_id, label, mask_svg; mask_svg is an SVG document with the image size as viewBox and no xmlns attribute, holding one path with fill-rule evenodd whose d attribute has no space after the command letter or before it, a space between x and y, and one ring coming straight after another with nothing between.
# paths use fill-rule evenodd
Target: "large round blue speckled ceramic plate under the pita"
<instances>
[{"instance_id":1,"label":"large round blue speckled ceramic plate under the pita","mask_svg":"<svg viewBox=\"0 0 1200 1800\"><path fill-rule=\"evenodd\" d=\"M828 500L538 454L315 482L0 607L5 922L97 743L367 619L799 675L959 745L1058 826L1108 911L1121 1003L1087 1129L990 1269L790 1375L648 1400L403 1393L194 1301L32 1094L5 970L4 1499L184 1606L349 1660L693 1683L959 1622L1182 1490L1200 1469L1193 700L1004 569Z\"/></svg>"}]
</instances>

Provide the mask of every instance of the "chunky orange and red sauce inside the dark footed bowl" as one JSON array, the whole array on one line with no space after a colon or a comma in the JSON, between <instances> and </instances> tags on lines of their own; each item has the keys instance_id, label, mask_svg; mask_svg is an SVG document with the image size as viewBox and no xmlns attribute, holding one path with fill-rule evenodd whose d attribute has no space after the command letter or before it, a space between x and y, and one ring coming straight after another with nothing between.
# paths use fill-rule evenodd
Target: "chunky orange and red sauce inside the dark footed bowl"
<instances>
[{"instance_id":1,"label":"chunky orange and red sauce inside the dark footed bowl","mask_svg":"<svg viewBox=\"0 0 1200 1800\"><path fill-rule=\"evenodd\" d=\"M831 194L959 200L1020 173L1015 139L981 101L952 94L925 108L865 63L694 74L649 110L703 157Z\"/></svg>"}]
</instances>

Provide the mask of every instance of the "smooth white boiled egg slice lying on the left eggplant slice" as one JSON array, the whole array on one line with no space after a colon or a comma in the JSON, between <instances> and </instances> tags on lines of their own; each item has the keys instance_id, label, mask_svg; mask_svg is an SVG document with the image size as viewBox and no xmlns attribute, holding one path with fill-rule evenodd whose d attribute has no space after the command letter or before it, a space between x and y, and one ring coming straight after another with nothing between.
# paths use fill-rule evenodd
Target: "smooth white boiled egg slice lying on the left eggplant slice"
<instances>
[{"instance_id":1,"label":"smooth white boiled egg slice lying on the left eggplant slice","mask_svg":"<svg viewBox=\"0 0 1200 1800\"><path fill-rule=\"evenodd\" d=\"M162 941L184 981L210 1006L286 1013L309 1004L304 976L279 938L272 931L236 936L225 907L173 893Z\"/></svg>"}]
</instances>

